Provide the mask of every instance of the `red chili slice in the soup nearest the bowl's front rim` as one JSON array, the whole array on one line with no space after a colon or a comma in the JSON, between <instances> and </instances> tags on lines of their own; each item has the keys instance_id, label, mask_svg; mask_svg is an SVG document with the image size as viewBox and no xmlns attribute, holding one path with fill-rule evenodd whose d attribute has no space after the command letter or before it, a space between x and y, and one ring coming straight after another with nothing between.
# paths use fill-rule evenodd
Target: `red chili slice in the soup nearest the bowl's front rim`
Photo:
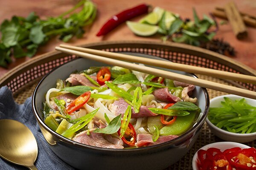
<instances>
[{"instance_id":1,"label":"red chili slice in the soup nearest the bowl's front rim","mask_svg":"<svg viewBox=\"0 0 256 170\"><path fill-rule=\"evenodd\" d=\"M121 129L119 129L117 131L119 136L121 134L120 130ZM122 136L121 139L122 139L123 142L125 142L125 144L128 144L131 147L135 145L135 142L136 142L136 131L134 130L134 127L133 127L133 125L131 125L131 123L128 124L128 127L127 127L127 129L125 131L125 134L124 134L124 136Z\"/></svg>"}]
</instances>

